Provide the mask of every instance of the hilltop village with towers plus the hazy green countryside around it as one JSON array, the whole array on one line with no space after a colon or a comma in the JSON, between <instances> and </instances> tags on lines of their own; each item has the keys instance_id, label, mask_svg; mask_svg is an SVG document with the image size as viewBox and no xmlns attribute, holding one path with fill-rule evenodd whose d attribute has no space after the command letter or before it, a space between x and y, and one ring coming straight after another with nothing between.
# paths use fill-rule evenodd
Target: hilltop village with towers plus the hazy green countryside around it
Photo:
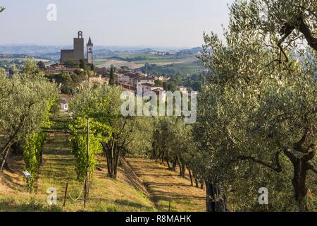
<instances>
[{"instance_id":1,"label":"hilltop village with towers plus the hazy green countryside around it","mask_svg":"<svg viewBox=\"0 0 317 226\"><path fill-rule=\"evenodd\" d=\"M88 37L85 42L84 33L78 31L73 38L73 47L66 49L56 49L56 60L32 57L44 73L44 76L50 81L58 84L61 94L61 109L68 112L68 100L77 92L84 88L85 84L97 85L108 84L120 86L122 90L142 95L149 91L166 97L167 91L196 91L204 83L208 71L197 65L197 57L194 54L199 52L199 48L189 50L180 50L179 52L159 52L153 49L142 49L142 52L128 54L118 54L115 57L106 58L100 56L100 49L94 47L93 38ZM97 53L95 53L95 51ZM99 52L98 52L99 51ZM12 55L2 54L6 59L0 64L6 71L7 78L12 78L15 72L23 71L23 65L32 55ZM120 58L124 56L125 58ZM1 57L1 56L0 56ZM8 61L15 57L14 61ZM58 58L57 58L58 57ZM158 59L151 62L151 60ZM58 60L57 60L58 59ZM126 64L113 65L111 60L123 60ZM187 61L189 59L189 61ZM159 63L155 63L160 61ZM100 61L106 64L100 64ZM107 63L110 62L110 63ZM140 61L137 67L129 66L129 62ZM165 62L164 62L165 61ZM153 61L152 61L153 62ZM163 63L162 63L163 62ZM164 69L164 63L166 64ZM133 63L132 63L133 64ZM96 66L97 65L97 66ZM173 65L175 69L173 69ZM161 70L159 71L161 67ZM180 71L182 67L189 71ZM156 71L158 70L158 71ZM196 92L195 92L196 93Z\"/></svg>"}]
</instances>

